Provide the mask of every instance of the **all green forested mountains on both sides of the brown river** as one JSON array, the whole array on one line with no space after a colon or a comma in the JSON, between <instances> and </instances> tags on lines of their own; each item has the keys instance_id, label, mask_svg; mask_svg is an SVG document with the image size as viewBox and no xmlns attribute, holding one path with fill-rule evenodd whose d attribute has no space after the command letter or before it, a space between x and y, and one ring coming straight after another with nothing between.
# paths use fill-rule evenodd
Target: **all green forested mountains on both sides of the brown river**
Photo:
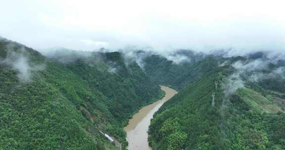
<instances>
[{"instance_id":1,"label":"all green forested mountains on both sides of the brown river","mask_svg":"<svg viewBox=\"0 0 285 150\"><path fill-rule=\"evenodd\" d=\"M285 149L283 55L106 51L0 39L0 150L120 149L102 133L124 150L123 127L159 85L179 93L151 120L153 150Z\"/></svg>"}]
</instances>

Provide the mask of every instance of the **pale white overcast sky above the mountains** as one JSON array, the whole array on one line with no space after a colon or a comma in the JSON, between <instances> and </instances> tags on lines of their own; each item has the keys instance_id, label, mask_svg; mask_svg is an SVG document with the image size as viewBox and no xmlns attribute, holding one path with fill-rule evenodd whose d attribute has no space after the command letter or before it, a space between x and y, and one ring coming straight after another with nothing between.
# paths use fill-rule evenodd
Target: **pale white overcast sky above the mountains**
<instances>
[{"instance_id":1,"label":"pale white overcast sky above the mountains","mask_svg":"<svg viewBox=\"0 0 285 150\"><path fill-rule=\"evenodd\" d=\"M33 48L285 50L284 0L2 0L0 36Z\"/></svg>"}]
</instances>

